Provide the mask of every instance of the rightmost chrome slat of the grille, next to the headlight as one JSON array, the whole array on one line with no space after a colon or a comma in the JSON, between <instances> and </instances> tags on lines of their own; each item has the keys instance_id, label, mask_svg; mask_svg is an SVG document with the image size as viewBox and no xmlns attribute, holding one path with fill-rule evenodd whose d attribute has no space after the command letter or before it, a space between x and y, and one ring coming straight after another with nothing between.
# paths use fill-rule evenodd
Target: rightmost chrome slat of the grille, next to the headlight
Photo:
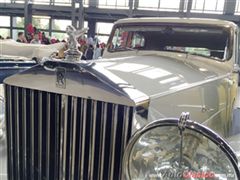
<instances>
[{"instance_id":1,"label":"rightmost chrome slat of the grille, next to the headlight","mask_svg":"<svg viewBox=\"0 0 240 180\"><path fill-rule=\"evenodd\" d=\"M122 128L122 142L121 142L121 154L120 154L120 170L119 170L119 177L121 179L121 171L122 171L122 157L124 154L124 149L127 144L127 135L128 135L128 126L129 126L129 107L124 106L124 113L123 113L123 128Z\"/></svg>"}]
</instances>

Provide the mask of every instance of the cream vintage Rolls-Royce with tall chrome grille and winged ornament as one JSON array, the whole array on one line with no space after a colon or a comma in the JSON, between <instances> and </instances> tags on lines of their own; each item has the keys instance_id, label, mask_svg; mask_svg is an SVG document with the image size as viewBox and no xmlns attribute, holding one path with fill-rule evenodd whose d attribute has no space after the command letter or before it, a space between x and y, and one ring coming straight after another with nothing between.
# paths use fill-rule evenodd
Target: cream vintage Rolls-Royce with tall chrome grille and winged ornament
<instances>
[{"instance_id":1,"label":"cream vintage Rolls-Royce with tall chrome grille and winged ornament","mask_svg":"<svg viewBox=\"0 0 240 180\"><path fill-rule=\"evenodd\" d=\"M9 180L240 179L234 23L119 20L96 61L68 34L64 60L4 80Z\"/></svg>"}]
</instances>

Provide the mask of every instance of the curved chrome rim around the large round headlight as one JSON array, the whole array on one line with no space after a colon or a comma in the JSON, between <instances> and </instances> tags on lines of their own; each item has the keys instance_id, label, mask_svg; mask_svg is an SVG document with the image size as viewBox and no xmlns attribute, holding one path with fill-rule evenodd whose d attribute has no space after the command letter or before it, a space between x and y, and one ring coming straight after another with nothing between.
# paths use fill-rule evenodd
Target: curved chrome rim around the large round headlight
<instances>
[{"instance_id":1,"label":"curved chrome rim around the large round headlight","mask_svg":"<svg viewBox=\"0 0 240 180\"><path fill-rule=\"evenodd\" d=\"M130 173L129 173L130 172L129 159L135 143L139 140L139 138L141 138L141 136L143 136L146 132L157 127L162 127L162 126L177 127L178 123L179 123L179 119L177 118L160 119L160 120L153 121L147 124L146 126L142 127L141 129L139 129L138 131L136 131L132 136L132 138L130 139L125 149L125 153L123 156L123 164L122 164L122 170L123 170L122 177L126 177L126 179L131 179ZM240 179L240 171L238 169L238 159L234 153L234 150L220 135L215 133L210 128L192 120L186 121L185 128L202 134L203 136L210 139L215 145L217 145L227 156L228 160L232 163L232 166L236 172L237 179Z\"/></svg>"}]
</instances>

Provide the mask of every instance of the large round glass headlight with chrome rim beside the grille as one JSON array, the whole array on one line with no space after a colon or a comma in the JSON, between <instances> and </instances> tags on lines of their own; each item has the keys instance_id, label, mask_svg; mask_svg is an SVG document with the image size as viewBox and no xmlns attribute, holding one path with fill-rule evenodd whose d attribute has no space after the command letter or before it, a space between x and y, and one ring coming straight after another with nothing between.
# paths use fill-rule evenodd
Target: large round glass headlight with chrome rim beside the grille
<instances>
[{"instance_id":1,"label":"large round glass headlight with chrome rim beside the grille","mask_svg":"<svg viewBox=\"0 0 240 180\"><path fill-rule=\"evenodd\" d=\"M237 158L216 133L191 120L155 121L139 130L123 159L124 179L240 178Z\"/></svg>"}]
</instances>

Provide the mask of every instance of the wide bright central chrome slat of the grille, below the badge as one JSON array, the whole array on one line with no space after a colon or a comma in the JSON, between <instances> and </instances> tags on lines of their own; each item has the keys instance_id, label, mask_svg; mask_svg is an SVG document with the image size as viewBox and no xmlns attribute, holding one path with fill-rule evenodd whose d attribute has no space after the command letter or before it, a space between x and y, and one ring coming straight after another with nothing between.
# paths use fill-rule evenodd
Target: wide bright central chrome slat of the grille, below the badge
<instances>
[{"instance_id":1,"label":"wide bright central chrome slat of the grille, below the badge","mask_svg":"<svg viewBox=\"0 0 240 180\"><path fill-rule=\"evenodd\" d=\"M68 96L62 95L62 114L61 114L61 139L60 139L60 167L59 179L66 179L66 146L67 146L67 114L68 114Z\"/></svg>"}]
</instances>

